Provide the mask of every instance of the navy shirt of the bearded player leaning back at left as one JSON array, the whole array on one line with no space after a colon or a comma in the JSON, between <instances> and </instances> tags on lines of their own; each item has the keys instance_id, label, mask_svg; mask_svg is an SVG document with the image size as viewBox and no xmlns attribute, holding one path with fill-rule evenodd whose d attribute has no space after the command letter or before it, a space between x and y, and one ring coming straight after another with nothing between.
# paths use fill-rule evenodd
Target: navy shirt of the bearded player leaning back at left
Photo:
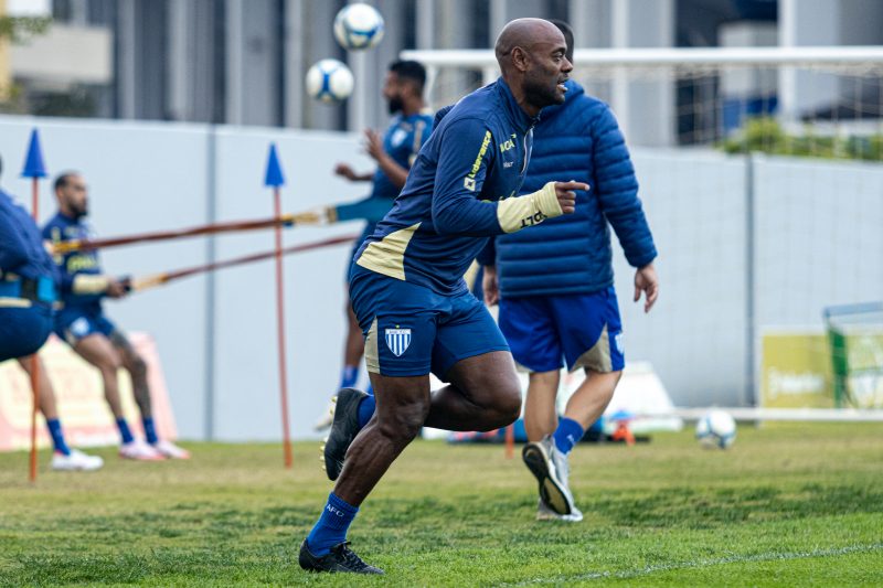
<instances>
[{"instance_id":1,"label":"navy shirt of the bearded player leaning back at left","mask_svg":"<svg viewBox=\"0 0 883 588\"><path fill-rule=\"evenodd\" d=\"M43 238L56 243L66 240L87 240L92 238L89 226L82 218L71 218L62 213L55 214L43 226ZM60 298L65 309L78 308L100 312L104 292L94 288L75 288L77 276L100 276L98 252L68 252L55 255L58 268ZM92 291L89 291L92 290Z\"/></svg>"}]
</instances>

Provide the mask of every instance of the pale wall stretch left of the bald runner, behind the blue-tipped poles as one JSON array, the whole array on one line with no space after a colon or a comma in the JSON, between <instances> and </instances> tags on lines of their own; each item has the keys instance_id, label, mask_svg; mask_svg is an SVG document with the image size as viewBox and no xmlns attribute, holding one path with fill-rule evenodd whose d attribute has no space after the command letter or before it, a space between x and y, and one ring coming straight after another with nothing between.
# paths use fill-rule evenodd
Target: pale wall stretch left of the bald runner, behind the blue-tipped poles
<instances>
[{"instance_id":1,"label":"pale wall stretch left of the bald runner, behind the blue-tipped poles","mask_svg":"<svg viewBox=\"0 0 883 588\"><path fill-rule=\"evenodd\" d=\"M337 161L371 169L355 136L222 127L216 161L209 160L210 128L163 124L119 124L0 117L0 185L30 209L30 180L19 178L31 128L41 132L46 167L79 170L91 191L91 222L100 236L180 228L208 222L210 202L217 221L267 217L272 192L263 186L267 149L276 141L286 173L283 210L354 200L369 184L332 178ZM210 193L210 175L216 191ZM41 218L54 214L51 179L41 182ZM362 225L285 232L285 245L358 234ZM208 238L110 248L105 268L143 276L206 263ZM219 236L216 259L269 250L272 232ZM349 246L288 256L286 333L292 435L311 425L338 384L342 355L344 267ZM184 438L206 429L206 349L214 355L214 436L225 440L276 439L278 417L275 272L272 261L215 275L215 336L206 342L206 278L195 277L108 302L108 314L126 330L157 340Z\"/></svg>"}]
</instances>

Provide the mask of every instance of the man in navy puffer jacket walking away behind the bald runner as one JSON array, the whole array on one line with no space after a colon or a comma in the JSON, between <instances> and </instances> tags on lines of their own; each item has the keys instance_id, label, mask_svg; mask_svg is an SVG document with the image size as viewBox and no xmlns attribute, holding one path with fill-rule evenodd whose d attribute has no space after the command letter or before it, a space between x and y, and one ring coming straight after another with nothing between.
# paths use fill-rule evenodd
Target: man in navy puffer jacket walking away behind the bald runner
<instances>
[{"instance_id":1,"label":"man in navy puffer jacket walking away behind the bald runner","mask_svg":"<svg viewBox=\"0 0 883 588\"><path fill-rule=\"evenodd\" d=\"M573 31L555 24L573 61ZM541 114L522 191L557 178L591 190L576 193L574 214L500 235L492 242L496 252L488 247L479 260L487 266L485 299L499 299L500 329L514 360L530 371L524 425L531 442L522 457L540 482L538 518L581 521L567 484L567 453L604 413L625 366L608 223L637 268L635 301L643 292L645 311L656 302L659 284L653 238L616 119L573 81L565 96L563 105ZM558 419L562 359L571 371L584 368L586 378ZM557 504L561 496L568 503Z\"/></svg>"}]
</instances>

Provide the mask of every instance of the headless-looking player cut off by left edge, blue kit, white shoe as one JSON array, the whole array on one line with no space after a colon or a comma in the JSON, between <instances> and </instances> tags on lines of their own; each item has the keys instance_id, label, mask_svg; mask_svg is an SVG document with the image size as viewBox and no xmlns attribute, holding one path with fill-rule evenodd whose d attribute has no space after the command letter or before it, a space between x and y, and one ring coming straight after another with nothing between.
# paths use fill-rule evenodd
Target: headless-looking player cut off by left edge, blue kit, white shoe
<instances>
[{"instance_id":1,"label":"headless-looking player cut off by left edge, blue kit, white shoe","mask_svg":"<svg viewBox=\"0 0 883 588\"><path fill-rule=\"evenodd\" d=\"M97 470L102 458L67 446L45 367L33 355L52 332L55 298L55 265L36 223L0 190L0 362L18 359L29 374L36 363L38 404L54 448L52 469Z\"/></svg>"}]
</instances>

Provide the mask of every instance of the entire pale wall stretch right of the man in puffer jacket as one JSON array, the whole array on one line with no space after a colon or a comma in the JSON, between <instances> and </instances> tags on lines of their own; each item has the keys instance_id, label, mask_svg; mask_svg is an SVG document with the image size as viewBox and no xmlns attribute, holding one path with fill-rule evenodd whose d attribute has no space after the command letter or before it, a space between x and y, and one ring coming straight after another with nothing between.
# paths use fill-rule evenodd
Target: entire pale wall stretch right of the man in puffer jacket
<instances>
[{"instance_id":1,"label":"entire pale wall stretch right of the man in puffer jacket","mask_svg":"<svg viewBox=\"0 0 883 588\"><path fill-rule=\"evenodd\" d=\"M649 316L631 302L614 239L626 356L650 361L675 404L747 404L764 327L821 328L826 306L883 298L883 165L753 156L749 227L744 157L632 154L661 293Z\"/></svg>"}]
</instances>

